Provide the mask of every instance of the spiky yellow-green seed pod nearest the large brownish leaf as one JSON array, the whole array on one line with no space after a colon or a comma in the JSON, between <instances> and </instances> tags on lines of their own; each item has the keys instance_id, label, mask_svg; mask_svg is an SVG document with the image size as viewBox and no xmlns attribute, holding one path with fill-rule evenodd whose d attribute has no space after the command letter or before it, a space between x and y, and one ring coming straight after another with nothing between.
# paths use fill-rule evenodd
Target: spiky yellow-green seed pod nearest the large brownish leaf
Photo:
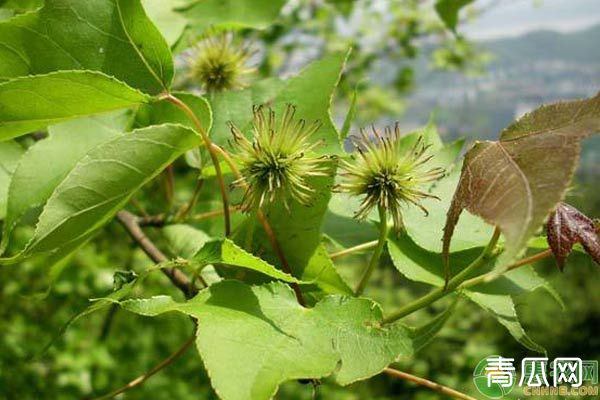
<instances>
[{"instance_id":1,"label":"spiky yellow-green seed pod nearest the large brownish leaf","mask_svg":"<svg viewBox=\"0 0 600 400\"><path fill-rule=\"evenodd\" d=\"M401 207L413 204L427 214L421 205L426 198L435 196L420 190L421 186L441 178L441 168L426 169L425 164L433 157L427 155L429 146L419 136L412 148L401 144L398 125L385 128L383 135L373 128L373 137L361 130L354 139L358 155L352 161L341 163L342 181L336 186L339 192L364 196L356 217L364 219L375 207L387 210L394 226L400 229Z\"/></svg>"}]
</instances>

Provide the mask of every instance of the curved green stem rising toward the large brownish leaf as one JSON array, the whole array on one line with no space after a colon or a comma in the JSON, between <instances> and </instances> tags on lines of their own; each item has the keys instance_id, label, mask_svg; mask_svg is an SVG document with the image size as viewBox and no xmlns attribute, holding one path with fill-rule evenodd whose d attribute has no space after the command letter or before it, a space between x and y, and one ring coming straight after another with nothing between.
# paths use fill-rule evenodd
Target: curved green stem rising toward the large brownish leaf
<instances>
[{"instance_id":1,"label":"curved green stem rising toward the large brownish leaf","mask_svg":"<svg viewBox=\"0 0 600 400\"><path fill-rule=\"evenodd\" d=\"M463 269L461 272L456 274L456 276L454 276L452 279L450 279L450 281L447 283L447 285L445 287L440 287L440 288L434 289L431 292L429 292L428 294L426 294L425 296L413 301L412 303L408 303L404 307L400 308L396 312L394 312L391 315L389 315L388 317L384 318L383 322L384 323L395 322L399 319L406 317L407 315L414 313L417 310L420 310L421 308L427 307L431 303L441 299L442 297L446 296L447 294L454 292L454 290L461 283L463 283L466 279L468 279L469 276L471 276L471 274L473 274L473 272L475 270L479 269L482 265L484 265L487 262L487 260L490 258L491 254L493 253L493 251L496 247L496 244L498 243L498 239L500 239L500 230L498 228L496 228L494 230L494 234L492 235L492 238L490 239L488 245L485 247L485 249L483 249L481 254L471 264L469 264L465 269Z\"/></svg>"}]
</instances>

